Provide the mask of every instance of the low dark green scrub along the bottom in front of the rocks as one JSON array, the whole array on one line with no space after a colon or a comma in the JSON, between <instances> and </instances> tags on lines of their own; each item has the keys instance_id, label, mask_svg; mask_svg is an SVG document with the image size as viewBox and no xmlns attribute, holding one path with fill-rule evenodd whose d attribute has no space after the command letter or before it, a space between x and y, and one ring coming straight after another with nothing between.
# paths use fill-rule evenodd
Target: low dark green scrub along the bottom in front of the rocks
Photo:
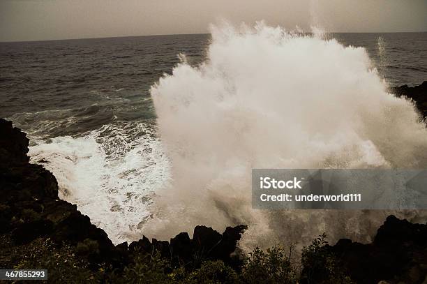
<instances>
[{"instance_id":1,"label":"low dark green scrub along the bottom in front of the rocks","mask_svg":"<svg viewBox=\"0 0 427 284\"><path fill-rule=\"evenodd\" d=\"M93 263L89 267L87 256L99 250L98 243L90 239L85 239L75 247L66 244L58 246L50 239L43 238L21 246L13 246L10 238L4 235L0 240L3 247L0 251L7 255L3 258L13 264L13 268L48 269L49 283L353 283L331 253L325 234L303 248L301 277L297 276L299 269L291 262L293 246L289 251L280 246L266 251L255 248L244 257L241 267L234 267L237 272L220 260L201 260L199 268L186 266L172 269L170 262L156 251L134 251L131 254L133 261L121 269Z\"/></svg>"}]
</instances>

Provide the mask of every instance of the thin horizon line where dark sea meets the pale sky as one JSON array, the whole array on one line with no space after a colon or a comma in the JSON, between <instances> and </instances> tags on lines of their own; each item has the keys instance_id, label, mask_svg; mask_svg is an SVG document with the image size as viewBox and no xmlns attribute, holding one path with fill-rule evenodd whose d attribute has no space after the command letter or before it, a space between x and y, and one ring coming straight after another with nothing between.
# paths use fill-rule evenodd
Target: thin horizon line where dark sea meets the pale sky
<instances>
[{"instance_id":1,"label":"thin horizon line where dark sea meets the pale sky","mask_svg":"<svg viewBox=\"0 0 427 284\"><path fill-rule=\"evenodd\" d=\"M313 33L313 32L302 32L302 33ZM327 31L325 33L427 33L427 31ZM38 43L44 41L61 41L61 40L96 40L105 38L142 38L149 36L197 36L197 35L209 35L210 33L158 33L140 36L96 36L93 38L58 38L48 40L6 40L0 41L0 43Z\"/></svg>"}]
</instances>

